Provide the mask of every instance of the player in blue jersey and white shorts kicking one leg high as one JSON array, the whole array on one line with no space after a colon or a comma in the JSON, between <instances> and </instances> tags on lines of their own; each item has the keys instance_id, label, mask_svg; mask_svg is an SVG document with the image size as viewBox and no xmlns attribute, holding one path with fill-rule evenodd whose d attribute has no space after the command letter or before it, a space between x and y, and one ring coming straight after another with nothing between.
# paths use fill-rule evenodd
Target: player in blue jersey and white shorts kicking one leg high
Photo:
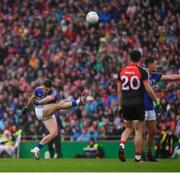
<instances>
[{"instance_id":1,"label":"player in blue jersey and white shorts kicking one leg high","mask_svg":"<svg viewBox=\"0 0 180 173\"><path fill-rule=\"evenodd\" d=\"M85 103L87 93L84 92L78 100L66 103L58 103L58 91L52 87L50 80L46 80L43 86L37 87L30 97L27 105L24 107L23 113L26 113L30 106L34 103L37 119L43 121L49 134L43 137L40 143L31 150L36 159L39 159L39 151L41 148L54 139L58 134L57 122L54 113L60 109L69 109Z\"/></svg>"}]
</instances>

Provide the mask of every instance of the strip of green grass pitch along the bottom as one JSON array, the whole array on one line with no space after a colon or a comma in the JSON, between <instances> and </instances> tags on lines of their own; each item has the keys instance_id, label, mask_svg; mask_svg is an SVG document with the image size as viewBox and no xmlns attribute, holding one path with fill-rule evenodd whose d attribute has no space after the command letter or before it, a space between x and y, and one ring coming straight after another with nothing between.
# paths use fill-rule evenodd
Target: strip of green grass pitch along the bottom
<instances>
[{"instance_id":1,"label":"strip of green grass pitch along the bottom","mask_svg":"<svg viewBox=\"0 0 180 173\"><path fill-rule=\"evenodd\" d=\"M0 159L0 171L4 172L178 172L180 160L135 163L118 159Z\"/></svg>"}]
</instances>

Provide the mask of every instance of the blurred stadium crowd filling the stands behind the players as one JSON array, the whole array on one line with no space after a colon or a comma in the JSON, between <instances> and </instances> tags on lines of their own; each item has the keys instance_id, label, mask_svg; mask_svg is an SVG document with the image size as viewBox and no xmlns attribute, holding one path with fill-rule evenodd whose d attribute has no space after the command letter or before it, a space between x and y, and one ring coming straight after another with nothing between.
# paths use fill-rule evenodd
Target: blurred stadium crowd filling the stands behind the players
<instances>
[{"instance_id":1,"label":"blurred stadium crowd filling the stands behind the players","mask_svg":"<svg viewBox=\"0 0 180 173\"><path fill-rule=\"evenodd\" d=\"M85 16L97 11L100 22ZM153 56L159 71L180 73L180 4L175 0L2 0L0 2L0 131L23 129L36 140L43 128L34 111L21 115L27 98L49 78L60 101L77 98L85 106L61 112L65 139L119 139L117 76L128 53ZM158 132L180 138L180 82L160 82L163 112Z\"/></svg>"}]
</instances>

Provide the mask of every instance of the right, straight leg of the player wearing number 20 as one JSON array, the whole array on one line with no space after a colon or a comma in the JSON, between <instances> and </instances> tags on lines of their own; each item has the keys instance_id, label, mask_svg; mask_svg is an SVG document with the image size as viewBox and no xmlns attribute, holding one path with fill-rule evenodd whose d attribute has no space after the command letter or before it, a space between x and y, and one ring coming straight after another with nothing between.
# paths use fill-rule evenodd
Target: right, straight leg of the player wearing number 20
<instances>
[{"instance_id":1,"label":"right, straight leg of the player wearing number 20","mask_svg":"<svg viewBox=\"0 0 180 173\"><path fill-rule=\"evenodd\" d=\"M144 132L144 121L133 122L135 129L134 146L135 146L135 161L141 160L141 150Z\"/></svg>"}]
</instances>

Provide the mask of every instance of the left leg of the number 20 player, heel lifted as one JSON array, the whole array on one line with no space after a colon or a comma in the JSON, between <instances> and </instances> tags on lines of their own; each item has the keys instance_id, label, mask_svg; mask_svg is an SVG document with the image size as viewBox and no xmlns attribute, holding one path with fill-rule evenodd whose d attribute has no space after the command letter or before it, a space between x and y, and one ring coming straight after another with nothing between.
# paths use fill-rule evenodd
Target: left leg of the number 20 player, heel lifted
<instances>
[{"instance_id":1,"label":"left leg of the number 20 player, heel lifted","mask_svg":"<svg viewBox=\"0 0 180 173\"><path fill-rule=\"evenodd\" d=\"M119 146L119 159L123 162L126 161L126 155L124 152L125 144L133 130L132 122L126 122L125 126L126 128L121 135L120 146Z\"/></svg>"}]
</instances>

